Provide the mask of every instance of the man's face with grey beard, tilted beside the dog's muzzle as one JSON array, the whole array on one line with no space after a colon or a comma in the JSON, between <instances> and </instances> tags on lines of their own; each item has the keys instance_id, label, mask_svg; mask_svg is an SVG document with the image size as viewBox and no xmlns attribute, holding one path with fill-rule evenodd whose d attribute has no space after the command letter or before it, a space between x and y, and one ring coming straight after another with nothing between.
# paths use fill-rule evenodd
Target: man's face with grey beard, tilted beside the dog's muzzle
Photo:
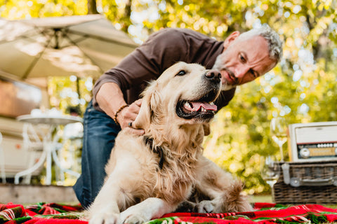
<instances>
[{"instance_id":1,"label":"man's face with grey beard, tilted beside the dog's muzzle","mask_svg":"<svg viewBox=\"0 0 337 224\"><path fill-rule=\"evenodd\" d=\"M269 57L268 44L262 36L235 37L225 41L224 47L213 66L221 72L223 90L249 83L276 65Z\"/></svg>"}]
</instances>

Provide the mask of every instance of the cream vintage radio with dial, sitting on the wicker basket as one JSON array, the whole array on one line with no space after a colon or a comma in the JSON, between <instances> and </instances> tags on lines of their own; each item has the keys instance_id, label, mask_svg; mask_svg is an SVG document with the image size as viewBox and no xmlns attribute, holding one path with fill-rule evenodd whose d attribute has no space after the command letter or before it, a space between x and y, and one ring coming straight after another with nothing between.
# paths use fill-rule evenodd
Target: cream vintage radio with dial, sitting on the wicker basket
<instances>
[{"instance_id":1,"label":"cream vintage radio with dial, sitting on the wicker basket","mask_svg":"<svg viewBox=\"0 0 337 224\"><path fill-rule=\"evenodd\" d=\"M290 161L337 161L337 121L289 125Z\"/></svg>"}]
</instances>

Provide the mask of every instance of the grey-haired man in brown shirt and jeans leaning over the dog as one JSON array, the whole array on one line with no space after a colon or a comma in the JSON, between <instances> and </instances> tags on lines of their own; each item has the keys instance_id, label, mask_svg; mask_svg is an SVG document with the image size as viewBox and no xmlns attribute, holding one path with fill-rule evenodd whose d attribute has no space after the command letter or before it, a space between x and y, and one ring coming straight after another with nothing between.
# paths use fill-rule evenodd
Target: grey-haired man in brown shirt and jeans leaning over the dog
<instances>
[{"instance_id":1,"label":"grey-haired man in brown shirt and jeans leaning over the dog","mask_svg":"<svg viewBox=\"0 0 337 224\"><path fill-rule=\"evenodd\" d=\"M162 29L101 76L93 101L84 114L82 174L74 186L82 206L88 207L103 186L105 164L121 129L144 134L133 125L140 109L140 92L147 82L176 62L199 63L221 72L223 91L218 109L234 97L235 87L263 76L282 57L282 43L270 27L243 34L234 31L225 41L190 29Z\"/></svg>"}]
</instances>

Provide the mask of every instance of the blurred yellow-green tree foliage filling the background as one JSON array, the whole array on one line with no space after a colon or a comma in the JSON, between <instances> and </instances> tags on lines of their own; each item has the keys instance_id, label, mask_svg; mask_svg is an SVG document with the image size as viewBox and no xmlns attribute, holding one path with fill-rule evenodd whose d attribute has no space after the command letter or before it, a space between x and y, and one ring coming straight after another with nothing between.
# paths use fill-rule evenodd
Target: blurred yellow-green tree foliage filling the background
<instances>
[{"instance_id":1,"label":"blurred yellow-green tree foliage filling the background","mask_svg":"<svg viewBox=\"0 0 337 224\"><path fill-rule=\"evenodd\" d=\"M336 0L0 0L0 17L16 20L100 13L136 44L164 27L194 29L224 40L232 31L270 25L284 41L282 61L265 76L237 88L232 102L217 113L204 141L206 157L236 174L246 183L246 193L254 195L270 193L258 170L261 156L280 158L270 136L272 118L284 117L288 124L337 120L336 8ZM76 110L82 116L97 78L51 76L44 84L29 87L33 92L46 91L47 97L40 96L39 102L46 101L47 108L66 114ZM11 91L4 86L0 102ZM8 118L8 112L1 112L1 117ZM78 143L76 147L81 148ZM284 145L285 160L287 148ZM80 157L80 151L76 156Z\"/></svg>"}]
</instances>

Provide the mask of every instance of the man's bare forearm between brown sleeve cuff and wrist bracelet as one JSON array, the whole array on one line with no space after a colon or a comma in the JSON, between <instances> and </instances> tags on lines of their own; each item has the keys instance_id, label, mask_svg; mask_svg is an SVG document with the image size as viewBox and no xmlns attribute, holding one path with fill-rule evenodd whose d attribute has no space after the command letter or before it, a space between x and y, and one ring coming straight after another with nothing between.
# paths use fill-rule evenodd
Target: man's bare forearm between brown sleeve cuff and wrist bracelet
<instances>
[{"instance_id":1,"label":"man's bare forearm between brown sleeve cuff and wrist bracelet","mask_svg":"<svg viewBox=\"0 0 337 224\"><path fill-rule=\"evenodd\" d=\"M123 93L116 83L104 83L96 94L96 101L105 113L111 118L121 106L125 105Z\"/></svg>"}]
</instances>

